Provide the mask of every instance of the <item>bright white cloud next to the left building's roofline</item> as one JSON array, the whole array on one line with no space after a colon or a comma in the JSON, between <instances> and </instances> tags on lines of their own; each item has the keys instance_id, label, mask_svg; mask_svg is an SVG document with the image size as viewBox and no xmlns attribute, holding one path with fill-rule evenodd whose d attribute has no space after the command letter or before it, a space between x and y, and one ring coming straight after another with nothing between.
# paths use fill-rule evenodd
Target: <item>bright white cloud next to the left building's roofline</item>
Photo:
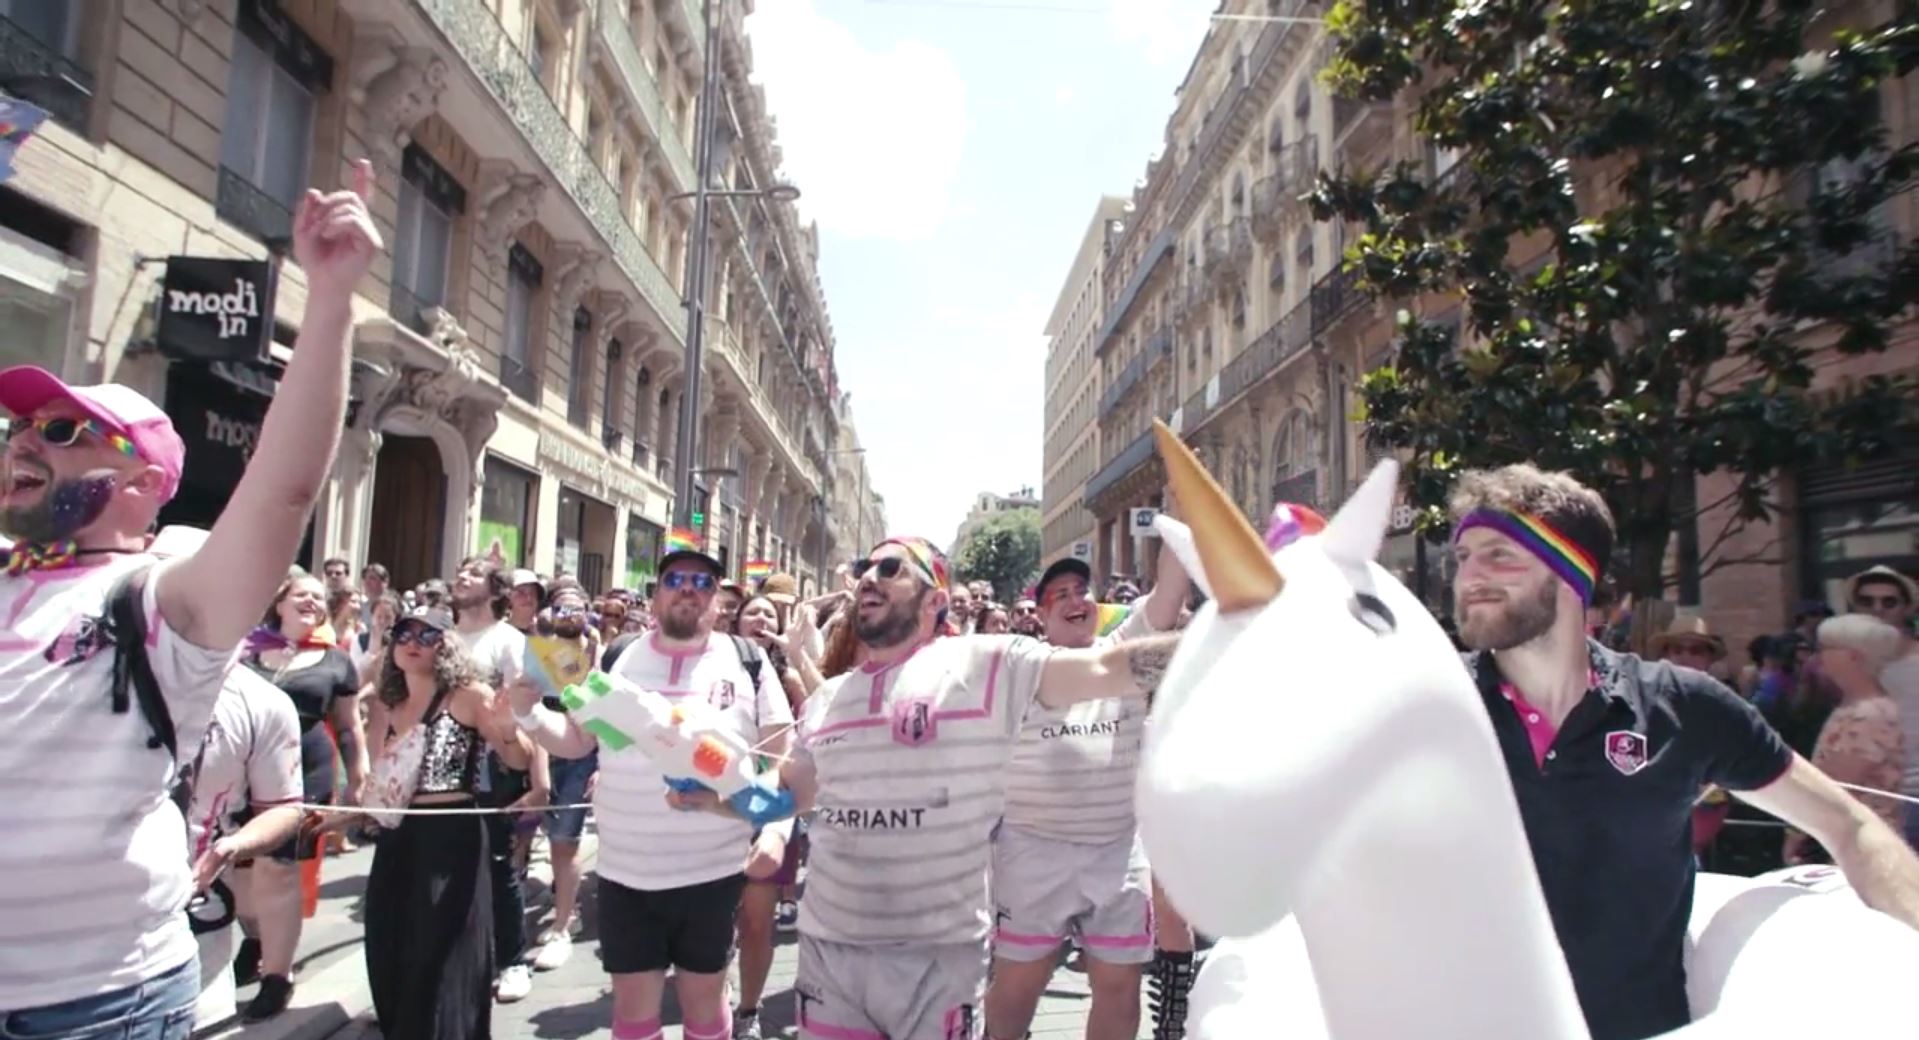
<instances>
[{"instance_id":1,"label":"bright white cloud next to the left building's roofline","mask_svg":"<svg viewBox=\"0 0 1919 1040\"><path fill-rule=\"evenodd\" d=\"M850 238L933 236L965 134L952 58L919 40L869 50L812 0L762 2L746 21L806 217Z\"/></svg>"}]
</instances>

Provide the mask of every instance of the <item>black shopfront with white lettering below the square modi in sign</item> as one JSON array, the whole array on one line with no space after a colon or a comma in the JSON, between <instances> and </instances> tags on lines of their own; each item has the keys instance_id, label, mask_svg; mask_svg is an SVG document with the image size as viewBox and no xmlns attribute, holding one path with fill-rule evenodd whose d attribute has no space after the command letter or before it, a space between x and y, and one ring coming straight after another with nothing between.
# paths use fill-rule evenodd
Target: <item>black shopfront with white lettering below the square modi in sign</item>
<instances>
[{"instance_id":1,"label":"black shopfront with white lettering below the square modi in sign","mask_svg":"<svg viewBox=\"0 0 1919 1040\"><path fill-rule=\"evenodd\" d=\"M159 524L209 530L246 474L259 424L278 390L278 366L236 361L175 361L167 366L167 416L186 443L180 491L159 510ZM299 545L299 566L313 566L313 520Z\"/></svg>"}]
</instances>

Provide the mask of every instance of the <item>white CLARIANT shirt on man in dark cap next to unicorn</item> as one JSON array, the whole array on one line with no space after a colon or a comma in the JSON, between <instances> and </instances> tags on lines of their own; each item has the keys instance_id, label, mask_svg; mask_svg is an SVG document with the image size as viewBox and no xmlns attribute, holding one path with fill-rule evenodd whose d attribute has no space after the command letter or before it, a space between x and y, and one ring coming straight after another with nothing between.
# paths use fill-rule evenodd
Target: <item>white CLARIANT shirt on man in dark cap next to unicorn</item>
<instances>
[{"instance_id":1,"label":"white CLARIANT shirt on man in dark cap next to unicorn","mask_svg":"<svg viewBox=\"0 0 1919 1040\"><path fill-rule=\"evenodd\" d=\"M1132 610L1094 647L1151 631L1146 610ZM1007 769L1006 825L1080 844L1130 842L1138 831L1132 785L1144 739L1144 697L1080 700L1065 708L1034 700Z\"/></svg>"}]
</instances>

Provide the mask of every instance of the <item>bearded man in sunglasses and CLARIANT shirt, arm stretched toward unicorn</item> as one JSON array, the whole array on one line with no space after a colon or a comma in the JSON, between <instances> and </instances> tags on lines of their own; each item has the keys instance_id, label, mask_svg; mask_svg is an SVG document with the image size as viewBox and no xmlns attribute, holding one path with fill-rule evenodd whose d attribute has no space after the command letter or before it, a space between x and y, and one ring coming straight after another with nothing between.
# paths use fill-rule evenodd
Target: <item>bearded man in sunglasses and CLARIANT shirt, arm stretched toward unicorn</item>
<instances>
[{"instance_id":1,"label":"bearded man in sunglasses and CLARIANT shirt, arm stretched toward unicorn","mask_svg":"<svg viewBox=\"0 0 1919 1040\"><path fill-rule=\"evenodd\" d=\"M806 700L781 779L817 808L800 900L800 1036L977 1040L994 913L986 894L1007 764L1034 702L1140 697L1176 635L1055 649L942 635L952 574L921 537L854 564L865 664ZM675 798L716 808L710 796Z\"/></svg>"}]
</instances>

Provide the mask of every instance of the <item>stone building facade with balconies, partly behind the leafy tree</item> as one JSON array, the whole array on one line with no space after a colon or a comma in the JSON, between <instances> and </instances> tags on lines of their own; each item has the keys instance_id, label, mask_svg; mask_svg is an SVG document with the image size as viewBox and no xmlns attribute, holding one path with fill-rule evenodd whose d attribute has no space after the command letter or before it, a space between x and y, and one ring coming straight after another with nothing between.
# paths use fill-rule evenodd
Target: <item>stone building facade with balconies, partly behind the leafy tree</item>
<instances>
[{"instance_id":1,"label":"stone building facade with balconies, partly behind the leafy tree","mask_svg":"<svg viewBox=\"0 0 1919 1040\"><path fill-rule=\"evenodd\" d=\"M1437 180L1458 155L1420 138L1403 100L1326 94L1316 83L1326 36L1311 21L1322 6L1226 0L1222 10L1303 21L1215 19L1167 123L1163 154L1111 236L1096 338L1102 462L1086 484L1102 574L1149 574L1153 564L1153 541L1126 530L1132 508L1157 507L1161 497L1153 418L1192 441L1255 520L1274 501L1330 512L1374 461L1353 420L1357 382L1389 361L1393 311L1460 326L1455 297L1386 303L1359 294L1355 274L1341 269L1349 232L1315 223L1299 201L1320 169L1410 161ZM1848 4L1835 25L1890 17L1894 6L1883 0ZM1890 144L1915 140L1919 77L1886 83L1881 102ZM1881 217L1890 240L1911 242L1919 198L1907 192ZM1819 342L1833 330L1804 334ZM1906 315L1884 355L1823 355L1815 388L1915 370L1919 320ZM1716 503L1727 489L1727 480L1708 476L1694 497ZM1800 599L1844 610L1844 578L1865 566L1919 574L1919 445L1867 466L1781 474L1777 507L1773 522L1718 545L1718 566L1706 560L1668 593L1735 647L1781 631ZM1714 510L1700 516L1700 539L1716 541L1725 520ZM1451 610L1445 551L1420 547L1401 526L1382 556L1435 610Z\"/></svg>"}]
</instances>

